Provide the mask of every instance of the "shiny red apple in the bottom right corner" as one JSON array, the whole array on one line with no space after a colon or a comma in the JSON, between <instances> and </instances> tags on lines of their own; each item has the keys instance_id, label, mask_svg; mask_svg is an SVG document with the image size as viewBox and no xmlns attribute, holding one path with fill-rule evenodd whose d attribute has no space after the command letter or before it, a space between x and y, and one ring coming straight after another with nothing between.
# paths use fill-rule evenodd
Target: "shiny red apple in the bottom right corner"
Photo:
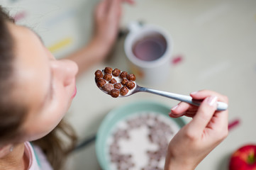
<instances>
[{"instance_id":1,"label":"shiny red apple in the bottom right corner","mask_svg":"<svg viewBox=\"0 0 256 170\"><path fill-rule=\"evenodd\" d=\"M229 170L256 170L256 145L237 149L230 158Z\"/></svg>"}]
</instances>

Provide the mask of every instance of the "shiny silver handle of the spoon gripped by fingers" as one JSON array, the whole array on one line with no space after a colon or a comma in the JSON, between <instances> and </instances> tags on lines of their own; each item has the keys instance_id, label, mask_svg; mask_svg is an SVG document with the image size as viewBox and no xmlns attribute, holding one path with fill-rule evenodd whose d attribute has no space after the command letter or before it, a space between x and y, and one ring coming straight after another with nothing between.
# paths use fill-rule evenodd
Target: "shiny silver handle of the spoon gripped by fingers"
<instances>
[{"instance_id":1,"label":"shiny silver handle of the spoon gripped by fingers","mask_svg":"<svg viewBox=\"0 0 256 170\"><path fill-rule=\"evenodd\" d=\"M151 94L157 94L160 96L165 96L167 98L172 98L174 100L177 101L184 101L186 103L190 103L192 105L195 106L200 106L202 101L196 101L193 100L193 98L191 98L191 96L186 96L186 95L182 95L182 94L173 94L173 93L169 93L166 91L159 91L159 90L155 90L155 89L148 89L145 87L140 87L139 91L145 91ZM226 103L223 103L221 101L218 101L218 106L217 106L217 111L225 111L228 108L228 105Z\"/></svg>"}]
</instances>

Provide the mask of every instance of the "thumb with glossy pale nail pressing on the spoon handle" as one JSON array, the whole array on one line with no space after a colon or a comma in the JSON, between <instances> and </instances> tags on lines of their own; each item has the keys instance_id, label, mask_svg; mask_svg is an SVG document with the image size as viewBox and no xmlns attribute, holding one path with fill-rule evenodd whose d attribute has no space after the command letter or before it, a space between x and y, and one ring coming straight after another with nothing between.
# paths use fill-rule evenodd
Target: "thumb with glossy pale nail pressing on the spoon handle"
<instances>
[{"instance_id":1,"label":"thumb with glossy pale nail pressing on the spoon handle","mask_svg":"<svg viewBox=\"0 0 256 170\"><path fill-rule=\"evenodd\" d=\"M194 115L193 120L189 123L189 129L192 132L196 132L197 134L201 134L206 128L206 125L210 122L213 114L215 113L217 108L217 97L216 96L208 96L204 99L204 101L199 106L196 115Z\"/></svg>"}]
</instances>

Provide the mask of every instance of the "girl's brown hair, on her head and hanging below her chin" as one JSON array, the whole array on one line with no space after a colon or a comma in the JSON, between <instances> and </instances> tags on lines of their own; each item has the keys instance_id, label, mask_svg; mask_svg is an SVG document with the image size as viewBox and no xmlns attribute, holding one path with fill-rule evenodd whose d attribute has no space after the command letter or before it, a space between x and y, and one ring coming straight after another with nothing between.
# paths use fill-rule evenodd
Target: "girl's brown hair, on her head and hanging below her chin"
<instances>
[{"instance_id":1,"label":"girl's brown hair, on her head and hanging below her chin","mask_svg":"<svg viewBox=\"0 0 256 170\"><path fill-rule=\"evenodd\" d=\"M7 22L13 19L6 14L0 6L0 147L9 143L17 142L22 136L21 125L26 118L27 109L18 101L11 98L11 91L15 88L13 68L13 47L15 45ZM62 169L69 152L77 142L77 136L72 127L60 122L48 135L33 143L38 145L53 169Z\"/></svg>"}]
</instances>

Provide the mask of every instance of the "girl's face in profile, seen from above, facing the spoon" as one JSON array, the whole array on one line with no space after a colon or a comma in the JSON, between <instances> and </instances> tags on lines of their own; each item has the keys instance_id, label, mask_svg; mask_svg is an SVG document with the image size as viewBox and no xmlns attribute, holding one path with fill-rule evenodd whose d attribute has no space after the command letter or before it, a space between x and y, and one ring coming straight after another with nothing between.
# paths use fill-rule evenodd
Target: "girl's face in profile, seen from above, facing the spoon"
<instances>
[{"instance_id":1,"label":"girl's face in profile, seen from above, facing the spoon","mask_svg":"<svg viewBox=\"0 0 256 170\"><path fill-rule=\"evenodd\" d=\"M13 91L28 108L24 141L37 140L56 127L76 93L77 64L55 60L33 31L9 23L15 43Z\"/></svg>"}]
</instances>

